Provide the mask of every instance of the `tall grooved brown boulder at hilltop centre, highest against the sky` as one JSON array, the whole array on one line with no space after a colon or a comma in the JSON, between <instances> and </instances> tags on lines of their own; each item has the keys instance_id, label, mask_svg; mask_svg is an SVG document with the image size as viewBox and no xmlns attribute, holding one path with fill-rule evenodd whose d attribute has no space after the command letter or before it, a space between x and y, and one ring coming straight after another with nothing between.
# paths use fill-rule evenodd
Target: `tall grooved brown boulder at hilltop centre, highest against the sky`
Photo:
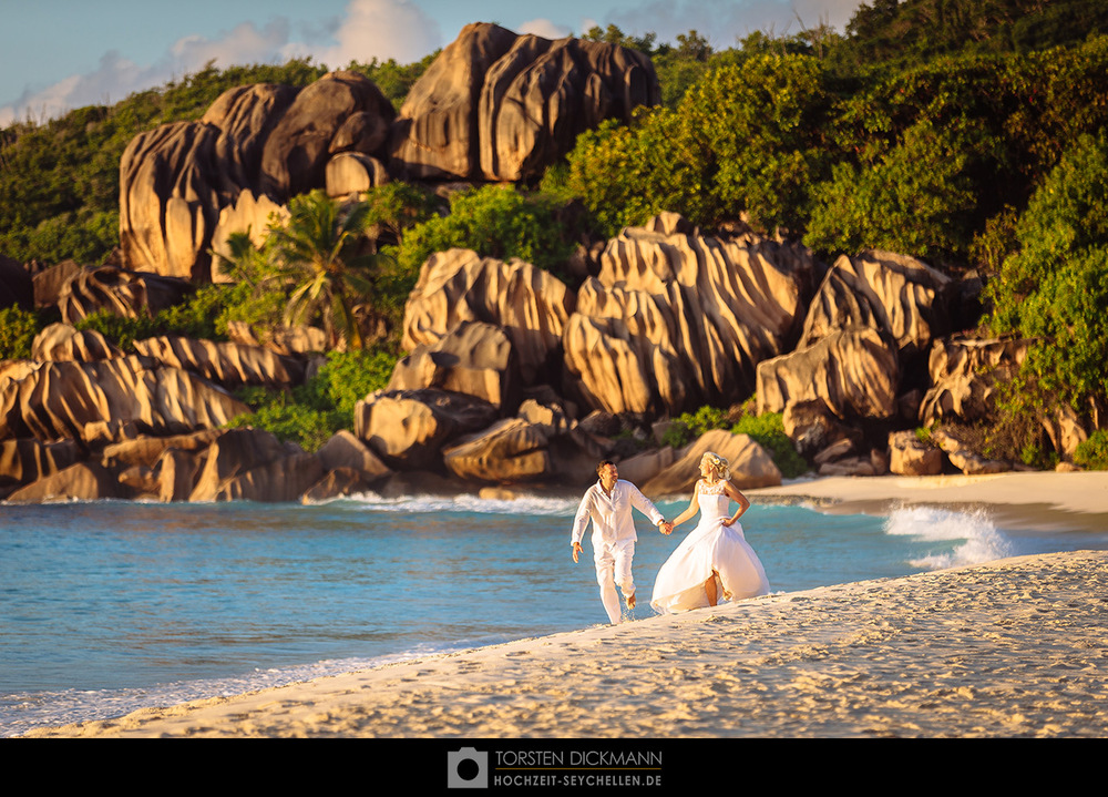
<instances>
[{"instance_id":1,"label":"tall grooved brown boulder at hilltop centre, highest against the sky","mask_svg":"<svg viewBox=\"0 0 1108 797\"><path fill-rule=\"evenodd\" d=\"M642 53L469 24L409 92L392 130L392 171L521 180L570 152L582 131L659 99Z\"/></svg>"}]
</instances>

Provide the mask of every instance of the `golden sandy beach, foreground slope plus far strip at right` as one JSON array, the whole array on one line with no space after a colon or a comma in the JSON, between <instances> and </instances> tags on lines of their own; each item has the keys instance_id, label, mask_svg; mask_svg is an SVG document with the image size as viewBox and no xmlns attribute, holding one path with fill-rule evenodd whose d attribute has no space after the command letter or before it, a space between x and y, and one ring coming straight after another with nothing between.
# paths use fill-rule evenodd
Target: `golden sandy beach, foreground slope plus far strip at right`
<instances>
[{"instance_id":1,"label":"golden sandy beach, foreground slope plus far strip at right","mask_svg":"<svg viewBox=\"0 0 1108 797\"><path fill-rule=\"evenodd\" d=\"M828 511L987 507L1108 529L1108 473L830 478ZM1108 551L768 595L32 737L1102 737Z\"/></svg>"}]
</instances>

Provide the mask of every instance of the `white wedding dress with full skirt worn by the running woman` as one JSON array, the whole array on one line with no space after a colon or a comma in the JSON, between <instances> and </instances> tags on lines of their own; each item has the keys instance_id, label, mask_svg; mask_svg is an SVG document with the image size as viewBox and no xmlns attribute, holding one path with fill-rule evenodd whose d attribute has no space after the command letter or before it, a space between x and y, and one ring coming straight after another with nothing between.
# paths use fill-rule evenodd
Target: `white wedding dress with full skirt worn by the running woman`
<instances>
[{"instance_id":1,"label":"white wedding dress with full skirt worn by the running woman","mask_svg":"<svg viewBox=\"0 0 1108 797\"><path fill-rule=\"evenodd\" d=\"M766 571L742 535L742 527L738 522L731 525L720 522L731 515L724 482L712 487L697 482L697 503L700 522L661 565L654 582L650 605L659 612L709 605L704 584L712 571L718 574L716 594L722 600L769 594Z\"/></svg>"}]
</instances>

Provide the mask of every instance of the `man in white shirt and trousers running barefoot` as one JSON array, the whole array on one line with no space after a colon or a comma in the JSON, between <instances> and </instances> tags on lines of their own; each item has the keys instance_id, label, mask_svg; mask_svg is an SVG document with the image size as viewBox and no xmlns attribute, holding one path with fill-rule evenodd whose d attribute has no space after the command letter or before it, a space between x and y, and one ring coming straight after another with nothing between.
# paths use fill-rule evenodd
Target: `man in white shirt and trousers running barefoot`
<instances>
[{"instance_id":1,"label":"man in white shirt and trousers running barefoot","mask_svg":"<svg viewBox=\"0 0 1108 797\"><path fill-rule=\"evenodd\" d=\"M596 564L596 583L601 586L601 601L612 623L620 617L619 596L616 584L623 590L627 609L635 607L635 581L630 574L632 559L635 556L635 521L632 507L647 515L663 534L674 530L650 500L629 481L619 478L615 462L604 460L596 466L599 480L585 492L573 519L573 561L581 554L581 540L585 527L593 521L593 562Z\"/></svg>"}]
</instances>

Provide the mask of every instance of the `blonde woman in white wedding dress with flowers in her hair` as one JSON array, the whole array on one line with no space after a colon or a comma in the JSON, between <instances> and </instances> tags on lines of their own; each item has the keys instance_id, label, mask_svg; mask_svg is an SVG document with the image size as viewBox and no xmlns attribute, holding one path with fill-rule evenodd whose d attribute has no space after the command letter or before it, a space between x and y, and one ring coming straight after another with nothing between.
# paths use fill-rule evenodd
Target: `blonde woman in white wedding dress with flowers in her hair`
<instances>
[{"instance_id":1,"label":"blonde woman in white wedding dress with flowers in her hair","mask_svg":"<svg viewBox=\"0 0 1108 797\"><path fill-rule=\"evenodd\" d=\"M700 476L674 528L698 511L700 522L661 565L654 583L650 605L659 612L715 606L719 595L735 601L769 594L766 571L738 523L750 501L728 481L727 460L709 451L700 458ZM732 500L739 509L729 515Z\"/></svg>"}]
</instances>

